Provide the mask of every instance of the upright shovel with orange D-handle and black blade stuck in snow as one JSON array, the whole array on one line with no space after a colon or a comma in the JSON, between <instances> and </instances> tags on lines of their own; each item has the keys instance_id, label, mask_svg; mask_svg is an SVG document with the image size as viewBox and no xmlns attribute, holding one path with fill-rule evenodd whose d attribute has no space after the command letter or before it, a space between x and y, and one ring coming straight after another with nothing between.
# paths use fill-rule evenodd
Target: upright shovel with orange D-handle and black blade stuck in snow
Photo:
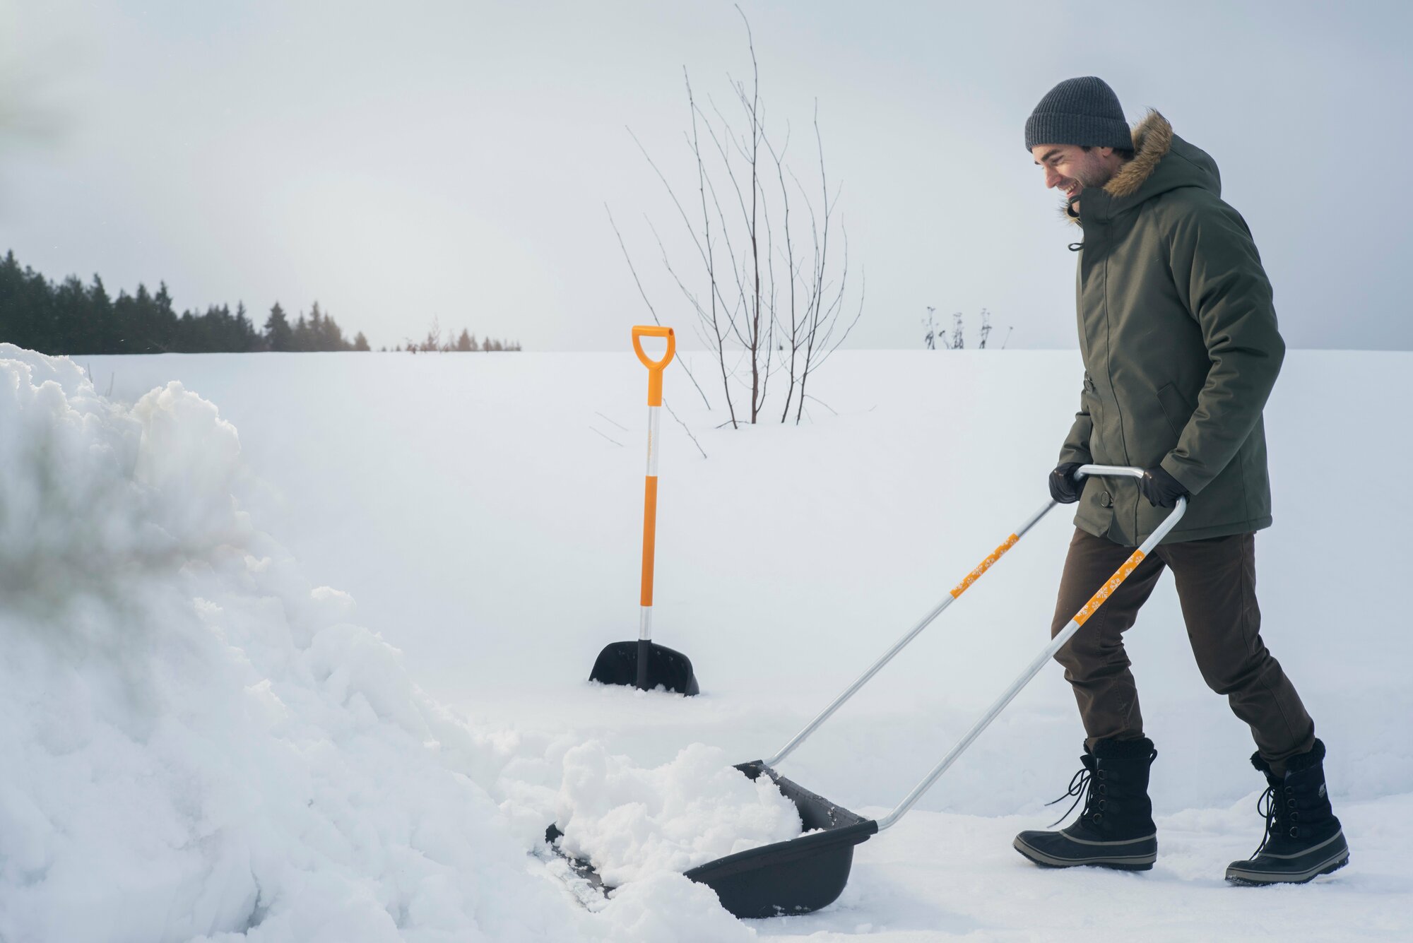
<instances>
[{"instance_id":1,"label":"upright shovel with orange D-handle and black blade stuck in snow","mask_svg":"<svg viewBox=\"0 0 1413 943\"><path fill-rule=\"evenodd\" d=\"M643 352L643 337L666 337L667 353L653 360ZM663 407L663 370L673 361L677 339L671 328L633 328L633 350L647 367L647 479L643 484L643 579L639 599L636 642L610 642L599 652L589 680L603 685L634 685L651 690L661 685L680 695L697 695L697 675L687 655L653 644L653 558L657 541L657 428Z\"/></svg>"}]
</instances>

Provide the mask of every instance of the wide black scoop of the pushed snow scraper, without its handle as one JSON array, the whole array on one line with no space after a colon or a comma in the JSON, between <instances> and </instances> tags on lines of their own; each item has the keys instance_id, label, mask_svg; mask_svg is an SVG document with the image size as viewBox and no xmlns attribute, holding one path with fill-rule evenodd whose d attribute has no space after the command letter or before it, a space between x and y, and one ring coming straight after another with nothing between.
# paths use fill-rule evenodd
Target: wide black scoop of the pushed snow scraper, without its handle
<instances>
[{"instance_id":1,"label":"wide black scoop of the pushed snow scraper, without its handle","mask_svg":"<svg viewBox=\"0 0 1413 943\"><path fill-rule=\"evenodd\" d=\"M743 762L736 769L750 779L763 772L769 775L800 810L804 831L812 834L728 854L687 871L687 877L715 891L721 905L736 918L810 913L834 903L849 881L853 846L877 834L879 823L834 805L759 759ZM593 888L603 894L612 891L592 864L569 857L557 844L560 836L560 829L551 824L544 840Z\"/></svg>"}]
</instances>

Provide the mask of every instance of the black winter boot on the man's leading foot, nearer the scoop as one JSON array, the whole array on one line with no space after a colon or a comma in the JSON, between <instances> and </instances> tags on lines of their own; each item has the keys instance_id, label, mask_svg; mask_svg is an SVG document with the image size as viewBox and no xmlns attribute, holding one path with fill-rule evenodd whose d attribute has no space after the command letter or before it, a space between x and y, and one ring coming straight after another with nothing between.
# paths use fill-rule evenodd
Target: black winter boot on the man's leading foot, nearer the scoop
<instances>
[{"instance_id":1,"label":"black winter boot on the man's leading foot, nearer the scoop","mask_svg":"<svg viewBox=\"0 0 1413 943\"><path fill-rule=\"evenodd\" d=\"M1147 871L1157 860L1157 826L1147 798L1149 767L1156 757L1146 737L1099 740L1092 754L1080 757L1084 769L1070 781L1070 791L1056 799L1075 796L1078 805L1082 798L1080 819L1060 831L1022 831L1013 847L1050 868L1095 864Z\"/></svg>"}]
</instances>

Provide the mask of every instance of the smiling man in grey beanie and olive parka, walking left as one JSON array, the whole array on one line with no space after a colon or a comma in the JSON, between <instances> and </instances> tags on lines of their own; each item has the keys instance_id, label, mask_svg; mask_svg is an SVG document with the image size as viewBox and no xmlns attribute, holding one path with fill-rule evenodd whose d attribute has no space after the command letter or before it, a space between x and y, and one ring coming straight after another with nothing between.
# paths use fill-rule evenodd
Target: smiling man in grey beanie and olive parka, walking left
<instances>
[{"instance_id":1,"label":"smiling man in grey beanie and olive parka, walking left","mask_svg":"<svg viewBox=\"0 0 1413 943\"><path fill-rule=\"evenodd\" d=\"M1022 831L1036 864L1147 870L1157 857L1149 768L1123 632L1171 567L1193 654L1256 741L1266 837L1226 868L1239 884L1304 882L1349 860L1324 782L1324 744L1260 639L1253 532L1270 525L1262 408L1284 356L1270 282L1245 220L1221 199L1217 164L1157 112L1132 133L1096 78L1057 85L1026 121L1046 186L1084 230L1078 251L1080 412L1050 494L1080 503L1051 635L1152 534L1178 497L1177 528L1056 655L1084 720L1067 795L1080 819ZM1087 463L1145 469L1091 477Z\"/></svg>"}]
</instances>

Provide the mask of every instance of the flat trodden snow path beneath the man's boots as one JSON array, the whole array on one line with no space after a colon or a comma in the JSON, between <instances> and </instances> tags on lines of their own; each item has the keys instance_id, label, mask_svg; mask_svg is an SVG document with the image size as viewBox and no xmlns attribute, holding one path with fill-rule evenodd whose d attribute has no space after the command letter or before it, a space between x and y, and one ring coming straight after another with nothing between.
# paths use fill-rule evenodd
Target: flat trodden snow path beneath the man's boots
<instances>
[{"instance_id":1,"label":"flat trodden snow path beneath the man's boots","mask_svg":"<svg viewBox=\"0 0 1413 943\"><path fill-rule=\"evenodd\" d=\"M1413 798L1340 807L1345 830L1358 836L1345 870L1306 887L1238 888L1222 870L1256 848L1255 807L1253 793L1234 809L1160 816L1159 858L1147 872L1041 870L1010 848L1017 831L1044 827L1054 815L910 815L859 846L832 908L750 925L762 937L812 943L1409 939Z\"/></svg>"}]
</instances>

